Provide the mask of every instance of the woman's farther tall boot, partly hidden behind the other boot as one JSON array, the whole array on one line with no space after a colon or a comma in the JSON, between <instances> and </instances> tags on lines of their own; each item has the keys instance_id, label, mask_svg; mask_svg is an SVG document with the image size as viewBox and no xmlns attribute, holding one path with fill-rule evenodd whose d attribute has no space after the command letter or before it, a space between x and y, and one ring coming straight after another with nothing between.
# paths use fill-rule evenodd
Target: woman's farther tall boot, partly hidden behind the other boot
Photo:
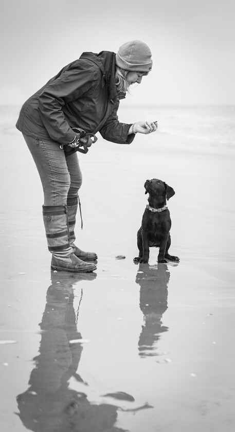
<instances>
[{"instance_id":1,"label":"woman's farther tall boot, partly hidden behind the other boot","mask_svg":"<svg viewBox=\"0 0 235 432\"><path fill-rule=\"evenodd\" d=\"M76 224L76 214L78 210L78 196L69 197L67 199L67 209L68 209L68 226L69 226L69 237L70 237L70 245L73 247L74 255L85 261L94 261L98 257L95 252L84 252L75 246L75 224Z\"/></svg>"}]
</instances>

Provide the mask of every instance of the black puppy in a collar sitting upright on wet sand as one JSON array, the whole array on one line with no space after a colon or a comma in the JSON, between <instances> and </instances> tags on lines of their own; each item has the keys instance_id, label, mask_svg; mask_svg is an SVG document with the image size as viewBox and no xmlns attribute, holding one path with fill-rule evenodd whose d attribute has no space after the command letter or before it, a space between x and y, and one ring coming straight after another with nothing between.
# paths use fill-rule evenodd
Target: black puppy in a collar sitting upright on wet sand
<instances>
[{"instance_id":1,"label":"black puppy in a collar sitting upright on wet sand","mask_svg":"<svg viewBox=\"0 0 235 432\"><path fill-rule=\"evenodd\" d=\"M178 262L178 257L173 257L168 253L171 245L171 218L166 203L175 192L158 178L146 180L144 187L146 188L145 193L149 193L149 204L144 210L142 224L137 232L139 256L134 258L134 262L147 263L149 248L152 246L159 247L158 262L166 263L167 260Z\"/></svg>"}]
</instances>

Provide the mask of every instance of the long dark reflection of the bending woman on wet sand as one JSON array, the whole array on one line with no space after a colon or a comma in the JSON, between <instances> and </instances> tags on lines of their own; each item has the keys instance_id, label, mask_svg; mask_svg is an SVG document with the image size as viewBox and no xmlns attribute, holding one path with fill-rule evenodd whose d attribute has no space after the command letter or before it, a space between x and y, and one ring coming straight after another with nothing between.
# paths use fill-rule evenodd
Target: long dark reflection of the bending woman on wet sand
<instances>
[{"instance_id":1,"label":"long dark reflection of the bending woman on wet sand","mask_svg":"<svg viewBox=\"0 0 235 432\"><path fill-rule=\"evenodd\" d=\"M32 370L29 388L17 397L19 416L30 430L37 432L102 432L112 428L117 419L117 407L91 405L84 393L69 389L69 379L82 378L77 373L82 346L69 344L81 338L77 331L73 306L73 284L94 279L95 274L80 276L51 273L52 284L42 317L42 339L36 366ZM57 282L60 281L60 284Z\"/></svg>"}]
</instances>

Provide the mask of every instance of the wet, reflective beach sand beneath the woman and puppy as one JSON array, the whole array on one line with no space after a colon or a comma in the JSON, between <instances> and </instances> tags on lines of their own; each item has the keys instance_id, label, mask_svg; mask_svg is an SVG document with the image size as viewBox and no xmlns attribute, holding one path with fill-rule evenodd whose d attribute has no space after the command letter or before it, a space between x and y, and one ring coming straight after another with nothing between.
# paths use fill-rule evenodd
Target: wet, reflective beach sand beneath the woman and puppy
<instances>
[{"instance_id":1,"label":"wet, reflective beach sand beneath the woman and puppy","mask_svg":"<svg viewBox=\"0 0 235 432\"><path fill-rule=\"evenodd\" d=\"M1 135L0 340L15 342L0 345L4 432L234 430L234 152L135 141L99 137L80 156L77 244L99 259L76 275L50 271L38 173L20 133ZM179 264L157 264L154 248L133 263L153 177L175 190Z\"/></svg>"}]
</instances>

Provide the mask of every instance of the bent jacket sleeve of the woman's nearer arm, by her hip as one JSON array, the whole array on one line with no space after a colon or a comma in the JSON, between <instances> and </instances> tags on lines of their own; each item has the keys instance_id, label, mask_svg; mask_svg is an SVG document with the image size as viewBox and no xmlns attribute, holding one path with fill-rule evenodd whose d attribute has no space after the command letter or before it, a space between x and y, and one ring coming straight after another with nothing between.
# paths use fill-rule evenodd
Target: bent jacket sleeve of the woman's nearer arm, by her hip
<instances>
[{"instance_id":1,"label":"bent jacket sleeve of the woman's nearer arm, by her hip","mask_svg":"<svg viewBox=\"0 0 235 432\"><path fill-rule=\"evenodd\" d=\"M83 96L97 85L97 71L94 67L84 68L83 62L65 70L55 81L48 83L39 96L38 108L41 120L51 139L67 144L73 141L75 133L63 113L63 106Z\"/></svg>"}]
</instances>

